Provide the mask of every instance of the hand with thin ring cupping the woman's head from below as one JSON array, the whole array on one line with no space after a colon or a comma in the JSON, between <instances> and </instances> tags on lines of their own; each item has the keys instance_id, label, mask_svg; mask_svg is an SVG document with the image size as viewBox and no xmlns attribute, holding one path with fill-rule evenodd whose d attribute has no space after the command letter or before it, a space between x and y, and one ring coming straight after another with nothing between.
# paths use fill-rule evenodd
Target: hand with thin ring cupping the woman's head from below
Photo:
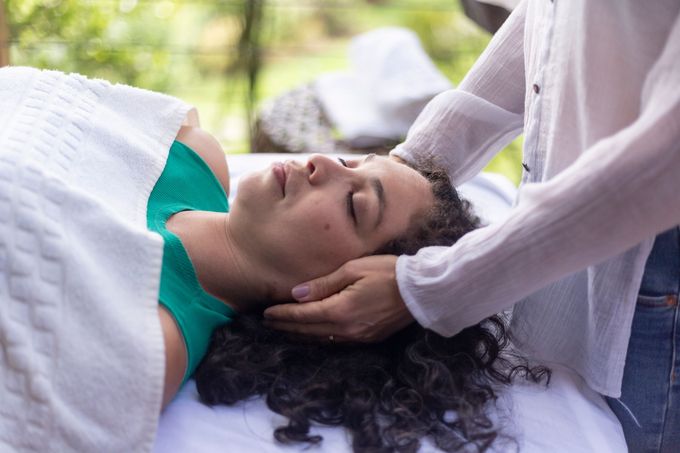
<instances>
[{"instance_id":1,"label":"hand with thin ring cupping the woman's head from below","mask_svg":"<svg viewBox=\"0 0 680 453\"><path fill-rule=\"evenodd\" d=\"M345 263L335 272L293 289L298 303L264 312L266 325L332 342L375 342L400 330L413 316L397 287L397 257L379 255Z\"/></svg>"}]
</instances>

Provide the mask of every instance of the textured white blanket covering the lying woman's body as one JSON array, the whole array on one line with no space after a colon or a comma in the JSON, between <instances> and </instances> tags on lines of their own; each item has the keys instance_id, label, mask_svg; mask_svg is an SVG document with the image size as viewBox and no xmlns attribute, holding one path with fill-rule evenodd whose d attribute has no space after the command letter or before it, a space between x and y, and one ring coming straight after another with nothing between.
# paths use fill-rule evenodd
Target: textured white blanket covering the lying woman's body
<instances>
[{"instance_id":1,"label":"textured white blanket covering the lying woman's body","mask_svg":"<svg viewBox=\"0 0 680 453\"><path fill-rule=\"evenodd\" d=\"M164 351L146 203L190 107L0 69L0 451L148 451Z\"/></svg>"}]
</instances>

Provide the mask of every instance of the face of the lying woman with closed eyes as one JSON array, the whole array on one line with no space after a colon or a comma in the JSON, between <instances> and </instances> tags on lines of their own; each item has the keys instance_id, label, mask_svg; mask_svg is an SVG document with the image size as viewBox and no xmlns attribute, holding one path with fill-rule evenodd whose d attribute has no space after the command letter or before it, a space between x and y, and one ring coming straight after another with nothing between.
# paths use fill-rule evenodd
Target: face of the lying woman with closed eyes
<instances>
[{"instance_id":1,"label":"face of the lying woman with closed eyes","mask_svg":"<svg viewBox=\"0 0 680 453\"><path fill-rule=\"evenodd\" d=\"M247 232L249 250L297 283L375 252L432 203L429 182L406 165L317 154L244 177L230 223Z\"/></svg>"}]
</instances>

